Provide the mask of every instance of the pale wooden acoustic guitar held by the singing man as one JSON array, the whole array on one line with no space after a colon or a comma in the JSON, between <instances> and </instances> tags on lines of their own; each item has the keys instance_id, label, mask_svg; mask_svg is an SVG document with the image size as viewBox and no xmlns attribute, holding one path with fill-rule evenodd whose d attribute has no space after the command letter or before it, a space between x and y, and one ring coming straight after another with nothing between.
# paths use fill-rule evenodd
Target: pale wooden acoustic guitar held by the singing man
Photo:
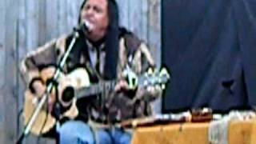
<instances>
[{"instance_id":1,"label":"pale wooden acoustic guitar held by the singing man","mask_svg":"<svg viewBox=\"0 0 256 144\"><path fill-rule=\"evenodd\" d=\"M130 70L124 71L126 74L126 80L131 89L134 89L138 86L162 86L164 89L166 82L168 82L170 75L167 70L163 68L158 71L148 71L145 74L137 76L134 72ZM68 81L68 85L66 85L66 89L72 88L71 100L70 100L70 108L61 114L61 118L75 118L78 115L78 108L76 106L76 101L79 98L89 97L96 94L102 94L106 90L114 90L114 86L117 81L105 81L99 82L97 84L90 84L90 78L85 68L78 68L73 70L69 74L61 74L58 78L59 85ZM63 87L63 86L62 86ZM65 87L65 86L64 86ZM52 90L52 93L49 95L49 99L55 100L55 90ZM65 91L65 90L63 90ZM64 92L63 92L64 93ZM62 94L63 95L63 94ZM74 98L73 98L74 97ZM35 108L39 102L38 96L31 93L30 90L26 90L25 92L25 102L24 102L24 124L29 122L31 115L34 113ZM56 118L50 113L52 110L51 106L42 107L42 110L38 114L38 118L34 122L30 132L32 134L40 135L46 134L50 131L55 123L57 122Z\"/></svg>"}]
</instances>

